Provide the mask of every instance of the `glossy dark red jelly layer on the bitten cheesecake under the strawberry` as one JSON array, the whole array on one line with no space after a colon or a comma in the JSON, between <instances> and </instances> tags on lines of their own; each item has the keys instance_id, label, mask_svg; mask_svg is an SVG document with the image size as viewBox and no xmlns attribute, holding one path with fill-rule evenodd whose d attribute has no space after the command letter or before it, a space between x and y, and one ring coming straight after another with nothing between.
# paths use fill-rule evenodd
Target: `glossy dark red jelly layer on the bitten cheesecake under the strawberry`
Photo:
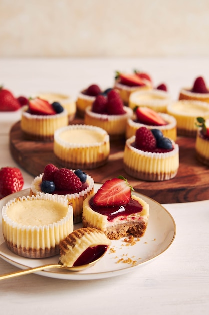
<instances>
[{"instance_id":1,"label":"glossy dark red jelly layer on the bitten cheesecake under the strawberry","mask_svg":"<svg viewBox=\"0 0 209 315\"><path fill-rule=\"evenodd\" d=\"M89 201L90 207L97 213L102 215L107 215L108 221L112 221L115 217L120 215L128 216L133 213L138 213L142 211L142 205L134 199L130 199L129 203L121 206L97 206L94 204L94 197L92 197Z\"/></svg>"}]
</instances>

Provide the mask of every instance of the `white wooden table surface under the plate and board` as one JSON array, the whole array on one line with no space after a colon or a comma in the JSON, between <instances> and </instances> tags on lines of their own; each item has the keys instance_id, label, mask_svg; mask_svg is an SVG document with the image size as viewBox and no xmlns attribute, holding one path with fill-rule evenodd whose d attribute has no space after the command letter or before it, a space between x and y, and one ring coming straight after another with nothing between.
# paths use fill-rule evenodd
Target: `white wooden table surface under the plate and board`
<instances>
[{"instance_id":1,"label":"white wooden table surface under the plate and board","mask_svg":"<svg viewBox=\"0 0 209 315\"><path fill-rule=\"evenodd\" d=\"M77 93L91 83L112 86L114 73L142 69L173 98L198 75L209 84L209 59L0 59L1 83L16 96L37 91ZM20 112L0 113L0 166L17 166L8 147ZM22 170L29 188L32 176ZM208 194L209 199L209 194ZM170 248L134 272L101 280L61 280L30 274L0 283L1 314L208 314L209 200L166 204L177 233ZM18 270L0 259L1 273Z\"/></svg>"}]
</instances>

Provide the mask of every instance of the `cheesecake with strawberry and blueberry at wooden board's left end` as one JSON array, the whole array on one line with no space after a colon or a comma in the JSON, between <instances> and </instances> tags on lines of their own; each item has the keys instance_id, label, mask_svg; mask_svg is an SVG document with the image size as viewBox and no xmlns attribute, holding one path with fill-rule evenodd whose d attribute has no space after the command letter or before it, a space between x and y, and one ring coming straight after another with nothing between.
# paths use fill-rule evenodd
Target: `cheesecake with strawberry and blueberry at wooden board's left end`
<instances>
[{"instance_id":1,"label":"cheesecake with strawberry and blueberry at wooden board's left end","mask_svg":"<svg viewBox=\"0 0 209 315\"><path fill-rule=\"evenodd\" d=\"M59 103L34 98L22 108L21 130L26 140L52 142L55 130L67 125L67 111Z\"/></svg>"}]
</instances>

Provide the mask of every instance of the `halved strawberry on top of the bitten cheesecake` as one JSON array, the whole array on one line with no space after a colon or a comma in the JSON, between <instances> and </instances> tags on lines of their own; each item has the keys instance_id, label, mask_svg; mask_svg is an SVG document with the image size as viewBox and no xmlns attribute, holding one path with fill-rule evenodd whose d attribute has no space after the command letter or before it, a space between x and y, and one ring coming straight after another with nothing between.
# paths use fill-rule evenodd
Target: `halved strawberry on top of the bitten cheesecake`
<instances>
[{"instance_id":1,"label":"halved strawberry on top of the bitten cheesecake","mask_svg":"<svg viewBox=\"0 0 209 315\"><path fill-rule=\"evenodd\" d=\"M97 206L120 206L131 199L132 187L123 176L107 180L94 195Z\"/></svg>"}]
</instances>

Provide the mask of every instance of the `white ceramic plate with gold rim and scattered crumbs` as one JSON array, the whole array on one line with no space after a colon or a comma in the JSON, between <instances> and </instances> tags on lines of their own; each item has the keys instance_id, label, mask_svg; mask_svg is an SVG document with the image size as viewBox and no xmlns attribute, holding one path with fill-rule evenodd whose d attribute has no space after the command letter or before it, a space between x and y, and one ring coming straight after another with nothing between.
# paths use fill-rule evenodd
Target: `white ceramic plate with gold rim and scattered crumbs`
<instances>
[{"instance_id":1,"label":"white ceramic plate with gold rim and scattered crumbs","mask_svg":"<svg viewBox=\"0 0 209 315\"><path fill-rule=\"evenodd\" d=\"M96 184L95 190L100 186L100 184ZM28 194L29 189L25 189L1 199L0 209L2 209L9 200L15 197L27 196ZM105 256L94 266L86 270L69 272L60 269L49 269L39 271L37 274L67 280L108 278L134 271L139 266L152 261L166 251L172 244L176 234L176 225L173 217L161 204L153 199L137 193L136 195L142 197L149 203L150 216L145 235L140 238L140 241L136 241L135 245L130 245L125 242L125 238L115 240L112 241L110 249ZM76 224L75 229L81 226L81 224ZM2 230L2 220L0 229ZM2 232L0 233L0 257L20 269L58 263L59 261L59 255L50 258L29 259L12 253L4 242Z\"/></svg>"}]
</instances>

